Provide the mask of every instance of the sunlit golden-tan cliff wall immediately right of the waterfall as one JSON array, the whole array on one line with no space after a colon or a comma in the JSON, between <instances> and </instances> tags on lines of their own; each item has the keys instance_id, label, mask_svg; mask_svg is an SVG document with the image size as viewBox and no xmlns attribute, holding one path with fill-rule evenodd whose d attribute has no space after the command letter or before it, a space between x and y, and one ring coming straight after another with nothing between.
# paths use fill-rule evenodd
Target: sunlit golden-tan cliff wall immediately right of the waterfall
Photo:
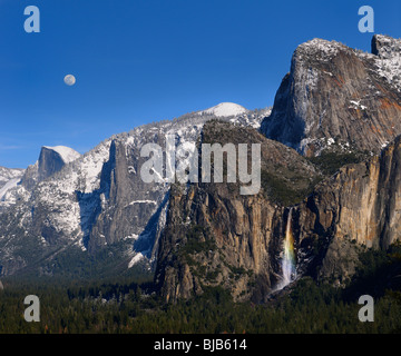
<instances>
[{"instance_id":1,"label":"sunlit golden-tan cliff wall immediately right of the waterfall","mask_svg":"<svg viewBox=\"0 0 401 356\"><path fill-rule=\"evenodd\" d=\"M295 207L301 269L342 283L353 274L361 246L387 249L400 240L400 162L398 137L380 156L341 168ZM312 271L306 265L315 257Z\"/></svg>"}]
</instances>

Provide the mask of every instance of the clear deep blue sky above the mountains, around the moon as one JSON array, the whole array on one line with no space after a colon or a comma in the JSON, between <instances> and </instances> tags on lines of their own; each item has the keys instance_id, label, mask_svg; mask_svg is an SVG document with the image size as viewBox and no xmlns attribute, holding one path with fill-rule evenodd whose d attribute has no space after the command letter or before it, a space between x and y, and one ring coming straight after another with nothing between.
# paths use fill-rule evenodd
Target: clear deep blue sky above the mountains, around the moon
<instances>
[{"instance_id":1,"label":"clear deep blue sky above the mountains, around the moon","mask_svg":"<svg viewBox=\"0 0 401 356\"><path fill-rule=\"evenodd\" d=\"M32 4L40 33L23 30ZM319 37L370 51L363 4L375 33L401 37L399 0L0 0L0 166L26 168L41 146L84 154L223 101L271 106L297 44Z\"/></svg>"}]
</instances>

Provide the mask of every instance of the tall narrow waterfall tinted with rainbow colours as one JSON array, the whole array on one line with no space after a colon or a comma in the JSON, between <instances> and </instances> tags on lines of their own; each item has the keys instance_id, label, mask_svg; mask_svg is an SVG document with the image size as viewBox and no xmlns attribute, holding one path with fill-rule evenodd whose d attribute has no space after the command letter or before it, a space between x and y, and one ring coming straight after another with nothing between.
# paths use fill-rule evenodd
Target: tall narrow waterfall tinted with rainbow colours
<instances>
[{"instance_id":1,"label":"tall narrow waterfall tinted with rainbow colours","mask_svg":"<svg viewBox=\"0 0 401 356\"><path fill-rule=\"evenodd\" d=\"M295 251L294 251L294 237L292 234L292 208L290 209L286 227L285 227L285 238L283 246L283 258L282 258L282 280L277 286L277 289L283 289L290 283L296 278L295 269Z\"/></svg>"}]
</instances>

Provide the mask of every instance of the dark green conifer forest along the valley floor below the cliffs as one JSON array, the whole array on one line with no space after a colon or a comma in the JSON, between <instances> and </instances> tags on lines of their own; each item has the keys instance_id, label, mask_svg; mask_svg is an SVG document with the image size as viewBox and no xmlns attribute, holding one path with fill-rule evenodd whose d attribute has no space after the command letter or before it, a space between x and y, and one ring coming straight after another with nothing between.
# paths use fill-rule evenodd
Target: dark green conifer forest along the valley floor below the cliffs
<instances>
[{"instance_id":1,"label":"dark green conifer forest along the valley floor below the cliffs","mask_svg":"<svg viewBox=\"0 0 401 356\"><path fill-rule=\"evenodd\" d=\"M0 333L400 333L401 293L397 281L400 247L366 251L345 289L311 278L265 305L233 303L227 290L165 304L153 284L4 280L0 291ZM40 298L40 323L23 319L23 298ZM374 297L374 322L361 323L362 294Z\"/></svg>"}]
</instances>

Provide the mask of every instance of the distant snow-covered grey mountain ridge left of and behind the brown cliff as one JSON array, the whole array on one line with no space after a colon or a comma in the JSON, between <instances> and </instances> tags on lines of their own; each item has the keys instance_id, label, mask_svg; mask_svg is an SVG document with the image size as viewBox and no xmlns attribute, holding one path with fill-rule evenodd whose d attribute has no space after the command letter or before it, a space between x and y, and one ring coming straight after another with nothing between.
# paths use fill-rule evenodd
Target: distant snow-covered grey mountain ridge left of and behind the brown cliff
<instances>
[{"instance_id":1,"label":"distant snow-covered grey mountain ridge left of and behind the brown cliff","mask_svg":"<svg viewBox=\"0 0 401 356\"><path fill-rule=\"evenodd\" d=\"M258 128L268 113L270 109L246 110L222 119ZM169 184L141 180L140 167L148 158L140 157L140 148L149 142L165 147L166 135L175 137L177 147L196 142L205 122L216 118L188 113L145 125L102 141L84 156L68 148L43 147L13 189L12 201L4 202L9 208L0 222L2 274L51 275L60 254L71 266L71 256L86 258L116 244L120 247L110 257L111 269L127 270L138 263L151 266Z\"/></svg>"}]
</instances>

